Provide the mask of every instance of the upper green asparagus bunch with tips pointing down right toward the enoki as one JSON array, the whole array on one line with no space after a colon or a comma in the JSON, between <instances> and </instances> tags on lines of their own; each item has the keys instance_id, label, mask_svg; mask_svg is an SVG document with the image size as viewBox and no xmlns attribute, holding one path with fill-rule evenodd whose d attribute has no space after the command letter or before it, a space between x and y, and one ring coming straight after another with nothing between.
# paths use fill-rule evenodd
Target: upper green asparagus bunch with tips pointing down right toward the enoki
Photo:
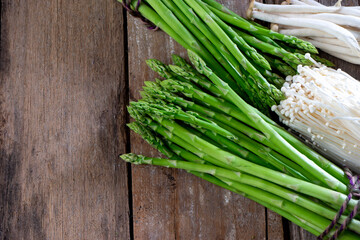
<instances>
[{"instance_id":1,"label":"upper green asparagus bunch with tips pointing down right toward the enoki","mask_svg":"<svg viewBox=\"0 0 360 240\"><path fill-rule=\"evenodd\" d=\"M146 0L139 6L135 0L130 2L267 115L271 106L284 99L280 91L284 78L297 65L312 64L303 53L288 51L278 42L317 53L310 43L249 22L213 0Z\"/></svg>"}]
</instances>

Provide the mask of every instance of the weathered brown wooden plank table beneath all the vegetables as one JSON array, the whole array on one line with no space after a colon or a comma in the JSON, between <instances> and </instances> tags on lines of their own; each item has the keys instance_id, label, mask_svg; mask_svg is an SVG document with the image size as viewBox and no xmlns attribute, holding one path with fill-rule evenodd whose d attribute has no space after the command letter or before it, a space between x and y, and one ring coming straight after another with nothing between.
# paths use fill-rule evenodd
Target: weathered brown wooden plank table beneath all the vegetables
<instances>
[{"instance_id":1,"label":"weathered brown wooden plank table beneath all the vegetables","mask_svg":"<svg viewBox=\"0 0 360 240\"><path fill-rule=\"evenodd\" d=\"M156 77L145 59L171 53L185 56L115 0L1 0L0 239L315 239L184 171L118 159L158 155L126 105Z\"/></svg>"}]
</instances>

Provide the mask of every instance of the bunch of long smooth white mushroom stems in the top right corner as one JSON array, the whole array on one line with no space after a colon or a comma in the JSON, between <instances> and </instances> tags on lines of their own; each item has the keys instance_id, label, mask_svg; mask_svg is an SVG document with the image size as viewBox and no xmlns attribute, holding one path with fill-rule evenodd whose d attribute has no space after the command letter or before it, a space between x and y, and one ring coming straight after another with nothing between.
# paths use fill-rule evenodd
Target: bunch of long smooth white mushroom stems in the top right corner
<instances>
[{"instance_id":1,"label":"bunch of long smooth white mushroom stems in the top right corner","mask_svg":"<svg viewBox=\"0 0 360 240\"><path fill-rule=\"evenodd\" d=\"M275 23L272 29L300 37L324 52L360 64L360 8L343 7L341 0L326 7L314 0L287 0L282 5L254 0L248 17Z\"/></svg>"}]
</instances>

